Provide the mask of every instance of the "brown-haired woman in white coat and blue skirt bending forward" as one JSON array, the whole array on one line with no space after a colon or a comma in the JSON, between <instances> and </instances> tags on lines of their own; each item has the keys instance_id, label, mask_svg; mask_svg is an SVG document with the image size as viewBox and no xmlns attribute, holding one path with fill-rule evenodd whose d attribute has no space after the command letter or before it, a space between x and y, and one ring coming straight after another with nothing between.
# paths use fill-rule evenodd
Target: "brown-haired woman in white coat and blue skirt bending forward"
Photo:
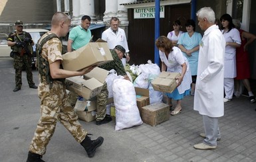
<instances>
[{"instance_id":1,"label":"brown-haired woman in white coat and blue skirt bending forward","mask_svg":"<svg viewBox=\"0 0 256 162\"><path fill-rule=\"evenodd\" d=\"M190 84L192 83L190 65L188 60L183 56L180 48L174 46L170 39L166 36L160 36L156 40L156 47L160 50L159 55L162 61L161 71L169 71L180 73L180 77L176 78L178 87L172 93L166 93L169 99L177 101L176 108L171 115L180 114L182 111L182 99L186 95L190 95Z\"/></svg>"}]
</instances>

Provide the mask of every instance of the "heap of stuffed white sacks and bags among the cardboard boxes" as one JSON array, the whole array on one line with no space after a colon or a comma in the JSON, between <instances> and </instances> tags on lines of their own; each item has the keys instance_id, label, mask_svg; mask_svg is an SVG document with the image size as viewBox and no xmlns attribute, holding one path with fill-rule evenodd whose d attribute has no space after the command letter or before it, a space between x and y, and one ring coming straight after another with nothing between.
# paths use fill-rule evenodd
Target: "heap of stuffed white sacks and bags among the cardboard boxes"
<instances>
[{"instance_id":1,"label":"heap of stuffed white sacks and bags among the cardboard boxes","mask_svg":"<svg viewBox=\"0 0 256 162\"><path fill-rule=\"evenodd\" d=\"M114 105L116 107L115 130L122 130L142 124L140 112L136 104L134 87L149 89L150 104L162 102L163 98L162 93L154 91L151 85L151 81L160 74L160 67L157 64L148 61L148 63L141 65L126 65L126 73L132 82L116 75L114 70L111 70L106 78L108 97L114 97ZM108 105L107 114L110 114L109 107Z\"/></svg>"}]
</instances>

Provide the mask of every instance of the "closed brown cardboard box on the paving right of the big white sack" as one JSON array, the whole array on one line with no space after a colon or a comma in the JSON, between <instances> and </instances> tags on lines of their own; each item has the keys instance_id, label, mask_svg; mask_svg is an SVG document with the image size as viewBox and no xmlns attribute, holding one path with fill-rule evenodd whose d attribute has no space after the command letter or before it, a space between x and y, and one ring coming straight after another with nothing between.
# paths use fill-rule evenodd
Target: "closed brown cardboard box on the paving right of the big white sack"
<instances>
[{"instance_id":1,"label":"closed brown cardboard box on the paving right of the big white sack","mask_svg":"<svg viewBox=\"0 0 256 162\"><path fill-rule=\"evenodd\" d=\"M142 121L150 126L156 126L170 119L170 108L168 104L156 102L142 107Z\"/></svg>"}]
</instances>

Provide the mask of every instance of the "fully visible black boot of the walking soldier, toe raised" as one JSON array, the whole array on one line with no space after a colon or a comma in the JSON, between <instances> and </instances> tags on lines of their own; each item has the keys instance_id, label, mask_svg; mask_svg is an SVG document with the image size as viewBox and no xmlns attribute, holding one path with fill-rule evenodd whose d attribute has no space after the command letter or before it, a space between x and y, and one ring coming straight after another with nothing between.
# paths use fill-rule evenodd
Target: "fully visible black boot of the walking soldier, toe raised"
<instances>
[{"instance_id":1,"label":"fully visible black boot of the walking soldier, toe raised","mask_svg":"<svg viewBox=\"0 0 256 162\"><path fill-rule=\"evenodd\" d=\"M84 147L88 157L94 157L96 148L100 147L104 141L104 138L98 137L96 140L90 140L88 136L80 143Z\"/></svg>"}]
</instances>

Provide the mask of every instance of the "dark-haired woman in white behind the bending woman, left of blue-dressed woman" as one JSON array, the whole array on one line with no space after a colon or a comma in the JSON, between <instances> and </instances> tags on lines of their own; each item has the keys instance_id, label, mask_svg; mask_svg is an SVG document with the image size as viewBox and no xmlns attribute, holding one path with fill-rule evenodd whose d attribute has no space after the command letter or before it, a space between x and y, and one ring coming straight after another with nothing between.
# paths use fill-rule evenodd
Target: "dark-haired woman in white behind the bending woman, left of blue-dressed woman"
<instances>
[{"instance_id":1,"label":"dark-haired woman in white behind the bending woman, left of blue-dressed woman","mask_svg":"<svg viewBox=\"0 0 256 162\"><path fill-rule=\"evenodd\" d=\"M180 38L180 36L182 35L182 31L180 30L180 28L182 27L181 26L182 24L180 23L180 20L175 20L173 23L172 23L172 27L174 28L174 30L172 30L172 32L169 32L167 34L167 38L169 38L171 41L172 41L172 44L174 46L178 46L177 42Z\"/></svg>"}]
</instances>

